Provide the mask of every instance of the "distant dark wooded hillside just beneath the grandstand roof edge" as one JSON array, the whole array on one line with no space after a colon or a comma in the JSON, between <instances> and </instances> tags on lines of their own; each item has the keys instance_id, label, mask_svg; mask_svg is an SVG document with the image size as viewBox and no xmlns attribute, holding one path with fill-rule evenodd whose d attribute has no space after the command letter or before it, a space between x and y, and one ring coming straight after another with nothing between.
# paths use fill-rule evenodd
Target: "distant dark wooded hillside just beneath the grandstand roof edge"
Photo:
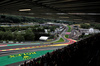
<instances>
[{"instance_id":1,"label":"distant dark wooded hillside just beneath the grandstand roof edge","mask_svg":"<svg viewBox=\"0 0 100 66\"><path fill-rule=\"evenodd\" d=\"M69 25L77 24L77 22L71 22L65 20L44 19L44 18L25 17L16 15L0 15L0 23L23 23L23 22L38 22L38 23L55 22L55 23L66 23Z\"/></svg>"}]
</instances>

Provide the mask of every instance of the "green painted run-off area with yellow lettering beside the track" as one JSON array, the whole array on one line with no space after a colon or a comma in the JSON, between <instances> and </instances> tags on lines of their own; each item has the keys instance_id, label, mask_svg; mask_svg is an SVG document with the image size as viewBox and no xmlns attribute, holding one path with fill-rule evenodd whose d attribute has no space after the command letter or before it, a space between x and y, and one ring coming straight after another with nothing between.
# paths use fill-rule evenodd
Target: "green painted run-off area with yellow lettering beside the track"
<instances>
[{"instance_id":1,"label":"green painted run-off area with yellow lettering beside the track","mask_svg":"<svg viewBox=\"0 0 100 66\"><path fill-rule=\"evenodd\" d=\"M52 52L52 51L53 50L44 50L44 51L27 52L27 53L2 56L0 57L0 66L5 66L16 62L25 61L32 58L37 58L46 54L47 52Z\"/></svg>"}]
</instances>

